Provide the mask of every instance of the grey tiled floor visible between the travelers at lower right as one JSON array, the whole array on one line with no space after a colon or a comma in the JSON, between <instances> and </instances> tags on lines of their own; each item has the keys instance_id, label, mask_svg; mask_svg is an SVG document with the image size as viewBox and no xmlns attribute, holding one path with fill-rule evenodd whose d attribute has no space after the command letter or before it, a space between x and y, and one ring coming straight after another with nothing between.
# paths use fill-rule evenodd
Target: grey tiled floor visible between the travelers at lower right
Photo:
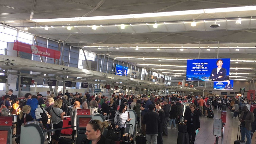
<instances>
[{"instance_id":1,"label":"grey tiled floor visible between the travelers at lower right","mask_svg":"<svg viewBox=\"0 0 256 144\"><path fill-rule=\"evenodd\" d=\"M214 110L214 118L220 118L221 111ZM238 125L240 124L238 119L234 119L230 117L231 112L227 111L227 123L225 123L224 128L224 139L223 144L233 144L237 137ZM215 136L213 135L213 118L206 118L204 116L200 116L200 125L201 129L196 135L195 144L215 144ZM255 144L255 136L254 134L252 138L252 144ZM67 136L71 138L71 136ZM176 144L178 137L177 129L168 129L168 136L163 136L164 144ZM14 138L12 143L15 143ZM219 144L221 144L221 137L219 137Z\"/></svg>"}]
</instances>

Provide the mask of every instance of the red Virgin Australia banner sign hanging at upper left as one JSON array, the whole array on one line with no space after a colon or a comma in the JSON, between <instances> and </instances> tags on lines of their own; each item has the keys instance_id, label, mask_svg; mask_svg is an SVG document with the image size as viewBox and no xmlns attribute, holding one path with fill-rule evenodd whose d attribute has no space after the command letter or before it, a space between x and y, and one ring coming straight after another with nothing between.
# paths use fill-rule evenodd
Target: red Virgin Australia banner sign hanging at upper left
<instances>
[{"instance_id":1,"label":"red Virgin Australia banner sign hanging at upper left","mask_svg":"<svg viewBox=\"0 0 256 144\"><path fill-rule=\"evenodd\" d=\"M44 48L37 45L29 45L17 40L14 42L13 50L21 51L24 53L33 53L39 56L47 56L54 59L59 59L61 54L58 50L52 50L50 48Z\"/></svg>"}]
</instances>

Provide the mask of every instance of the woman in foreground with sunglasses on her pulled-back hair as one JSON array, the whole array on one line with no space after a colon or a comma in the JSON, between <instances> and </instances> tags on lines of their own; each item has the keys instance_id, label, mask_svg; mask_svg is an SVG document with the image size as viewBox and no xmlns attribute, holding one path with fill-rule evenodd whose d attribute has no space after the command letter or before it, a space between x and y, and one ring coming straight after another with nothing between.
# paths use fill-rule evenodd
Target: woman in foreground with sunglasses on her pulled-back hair
<instances>
[{"instance_id":1,"label":"woman in foreground with sunglasses on her pulled-back hair","mask_svg":"<svg viewBox=\"0 0 256 144\"><path fill-rule=\"evenodd\" d=\"M86 138L82 140L83 144L115 144L115 141L110 140L102 135L108 122L91 119L86 126Z\"/></svg>"}]
</instances>

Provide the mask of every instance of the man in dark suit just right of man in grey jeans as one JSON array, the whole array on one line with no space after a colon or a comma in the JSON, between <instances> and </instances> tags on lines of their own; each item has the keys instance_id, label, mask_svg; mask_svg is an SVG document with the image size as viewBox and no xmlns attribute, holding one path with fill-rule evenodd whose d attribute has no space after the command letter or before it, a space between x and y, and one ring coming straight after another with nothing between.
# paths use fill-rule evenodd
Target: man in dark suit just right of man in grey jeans
<instances>
[{"instance_id":1,"label":"man in dark suit just right of man in grey jeans","mask_svg":"<svg viewBox=\"0 0 256 144\"><path fill-rule=\"evenodd\" d=\"M161 102L157 101L155 103L155 107L157 109L157 112L159 113L159 118L160 118L160 123L158 124L158 132L157 132L157 144L163 144L163 139L162 139L162 128L163 128L163 122L165 119L165 112L161 108Z\"/></svg>"}]
</instances>

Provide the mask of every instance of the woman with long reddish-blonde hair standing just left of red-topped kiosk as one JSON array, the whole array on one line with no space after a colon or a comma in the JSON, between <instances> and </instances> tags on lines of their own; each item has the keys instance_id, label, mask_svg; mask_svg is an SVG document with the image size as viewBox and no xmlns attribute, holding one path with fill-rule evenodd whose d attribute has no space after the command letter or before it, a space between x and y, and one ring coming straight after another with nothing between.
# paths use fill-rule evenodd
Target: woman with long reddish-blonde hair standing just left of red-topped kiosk
<instances>
[{"instance_id":1,"label":"woman with long reddish-blonde hair standing just left of red-topped kiosk","mask_svg":"<svg viewBox=\"0 0 256 144\"><path fill-rule=\"evenodd\" d=\"M77 110L80 109L80 102L79 101L75 101L73 104L73 107L71 108L70 111L70 118L71 118L71 126L76 126L76 113ZM76 127L72 128L72 140L75 141L75 131L76 131Z\"/></svg>"}]
</instances>

